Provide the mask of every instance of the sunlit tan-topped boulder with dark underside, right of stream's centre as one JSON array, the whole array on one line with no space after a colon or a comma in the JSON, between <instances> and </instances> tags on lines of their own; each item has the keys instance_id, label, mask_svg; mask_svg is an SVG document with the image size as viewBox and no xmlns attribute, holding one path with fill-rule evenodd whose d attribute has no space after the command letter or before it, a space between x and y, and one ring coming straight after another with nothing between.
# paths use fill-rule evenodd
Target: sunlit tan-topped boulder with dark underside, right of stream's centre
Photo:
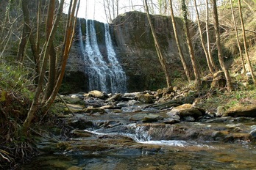
<instances>
[{"instance_id":1,"label":"sunlit tan-topped boulder with dark underside, right of stream's centre","mask_svg":"<svg viewBox=\"0 0 256 170\"><path fill-rule=\"evenodd\" d=\"M172 108L171 111L167 112L167 115L170 117L172 117L176 114L179 115L179 117L198 118L198 117L202 116L202 111L199 111L198 108L193 107L193 105L191 105L191 104L184 104L184 105Z\"/></svg>"}]
</instances>

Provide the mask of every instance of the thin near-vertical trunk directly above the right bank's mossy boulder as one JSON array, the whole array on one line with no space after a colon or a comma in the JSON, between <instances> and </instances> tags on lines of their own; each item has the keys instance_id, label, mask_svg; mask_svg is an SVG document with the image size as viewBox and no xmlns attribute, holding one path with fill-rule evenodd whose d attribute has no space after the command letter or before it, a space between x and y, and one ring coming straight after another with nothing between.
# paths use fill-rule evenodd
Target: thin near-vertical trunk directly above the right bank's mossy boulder
<instances>
[{"instance_id":1,"label":"thin near-vertical trunk directly above the right bank's mossy boulder","mask_svg":"<svg viewBox=\"0 0 256 170\"><path fill-rule=\"evenodd\" d=\"M208 6L208 0L205 0L206 4L206 23L205 23L205 29L206 29L206 37L207 37L207 52L210 59L210 64L213 66L213 71L218 70L218 67L214 63L213 55L210 48L210 32L209 32L209 6Z\"/></svg>"}]
</instances>

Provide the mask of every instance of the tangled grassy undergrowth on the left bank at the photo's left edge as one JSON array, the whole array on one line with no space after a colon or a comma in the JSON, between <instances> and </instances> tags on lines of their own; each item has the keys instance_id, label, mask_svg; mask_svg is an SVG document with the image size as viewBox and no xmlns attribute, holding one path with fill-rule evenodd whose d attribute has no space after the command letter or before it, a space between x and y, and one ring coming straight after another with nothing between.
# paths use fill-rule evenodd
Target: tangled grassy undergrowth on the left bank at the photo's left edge
<instances>
[{"instance_id":1,"label":"tangled grassy undergrowth on the left bank at the photo's left edge","mask_svg":"<svg viewBox=\"0 0 256 170\"><path fill-rule=\"evenodd\" d=\"M34 154L29 138L19 135L33 96L29 71L0 62L0 169L17 169Z\"/></svg>"}]
</instances>

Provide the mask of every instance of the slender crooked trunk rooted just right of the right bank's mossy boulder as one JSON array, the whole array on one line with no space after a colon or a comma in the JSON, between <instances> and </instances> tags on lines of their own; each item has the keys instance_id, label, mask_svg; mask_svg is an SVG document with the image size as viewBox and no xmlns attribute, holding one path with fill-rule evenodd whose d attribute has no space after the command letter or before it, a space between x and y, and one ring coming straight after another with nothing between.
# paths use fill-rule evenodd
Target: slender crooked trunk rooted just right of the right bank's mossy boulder
<instances>
[{"instance_id":1,"label":"slender crooked trunk rooted just right of the right bank's mossy boulder","mask_svg":"<svg viewBox=\"0 0 256 170\"><path fill-rule=\"evenodd\" d=\"M230 78L229 70L224 63L222 48L221 48L221 36L219 32L219 25L218 25L218 10L216 0L212 0L213 2L213 18L214 18L214 29L216 33L216 45L218 49L218 62L221 64L221 69L224 71L225 78L227 80L227 89L230 91L232 90L232 83Z\"/></svg>"}]
</instances>

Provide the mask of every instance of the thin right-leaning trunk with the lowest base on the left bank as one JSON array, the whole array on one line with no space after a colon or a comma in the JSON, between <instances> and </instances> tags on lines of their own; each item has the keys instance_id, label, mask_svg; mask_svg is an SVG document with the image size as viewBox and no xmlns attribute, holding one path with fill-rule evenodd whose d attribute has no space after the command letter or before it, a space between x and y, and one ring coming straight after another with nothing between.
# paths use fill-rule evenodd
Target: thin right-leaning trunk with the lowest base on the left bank
<instances>
[{"instance_id":1,"label":"thin right-leaning trunk with the lowest base on the left bank","mask_svg":"<svg viewBox=\"0 0 256 170\"><path fill-rule=\"evenodd\" d=\"M39 75L38 87L35 91L35 97L32 101L32 105L29 108L29 113L27 114L27 117L26 117L26 119L24 121L24 124L23 124L23 127L22 127L22 133L24 135L27 134L27 130L29 130L29 126L31 124L31 121L35 117L35 112L38 111L40 93L43 89L43 79L44 79L45 72L46 72L48 56L49 56L49 53L50 53L51 44L54 40L54 34L57 30L57 26L58 26L58 23L60 21L61 14L63 12L63 4L64 4L64 0L61 0L60 1L60 7L59 7L58 13L57 13L57 17L55 18L54 25L51 29L51 34L49 35L49 39L46 42L46 48L44 49L45 53L44 53L44 56L43 56L43 64L42 64L40 75ZM51 5L54 6L54 4L51 4Z\"/></svg>"}]
</instances>

